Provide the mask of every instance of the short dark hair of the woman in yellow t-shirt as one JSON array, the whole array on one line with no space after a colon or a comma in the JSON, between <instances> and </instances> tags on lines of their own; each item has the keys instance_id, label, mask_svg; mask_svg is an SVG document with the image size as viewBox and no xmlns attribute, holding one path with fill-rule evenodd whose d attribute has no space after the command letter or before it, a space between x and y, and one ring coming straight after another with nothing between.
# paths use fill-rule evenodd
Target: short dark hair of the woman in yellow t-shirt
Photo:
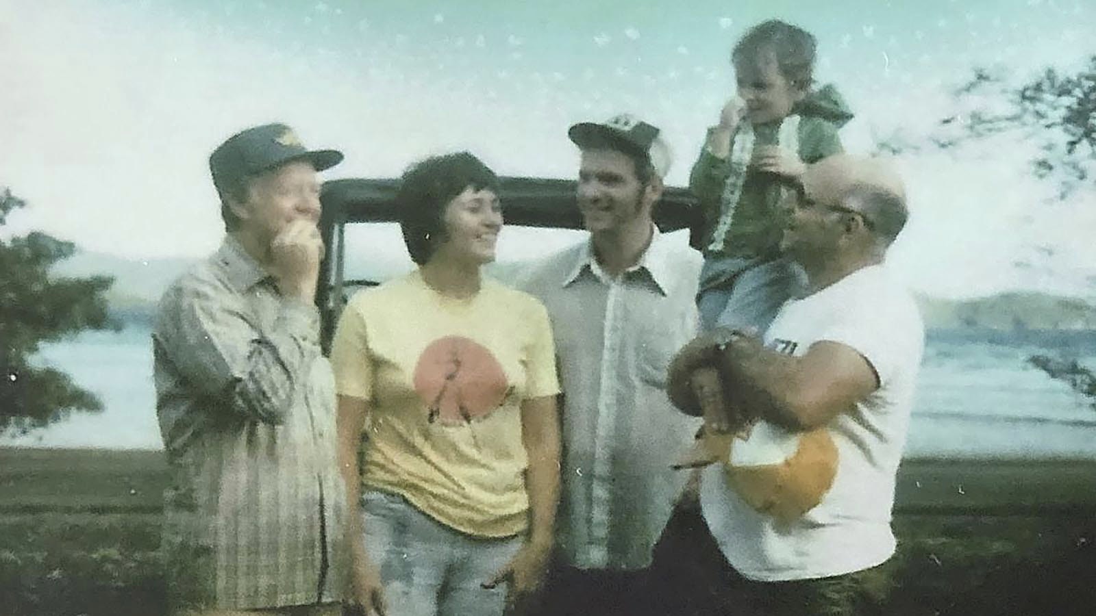
<instances>
[{"instance_id":1,"label":"short dark hair of the woman in yellow t-shirt","mask_svg":"<svg viewBox=\"0 0 1096 616\"><path fill-rule=\"evenodd\" d=\"M445 206L469 186L499 192L494 171L468 152L431 157L403 172L396 205L403 243L416 264L430 261L433 240L445 236Z\"/></svg>"}]
</instances>

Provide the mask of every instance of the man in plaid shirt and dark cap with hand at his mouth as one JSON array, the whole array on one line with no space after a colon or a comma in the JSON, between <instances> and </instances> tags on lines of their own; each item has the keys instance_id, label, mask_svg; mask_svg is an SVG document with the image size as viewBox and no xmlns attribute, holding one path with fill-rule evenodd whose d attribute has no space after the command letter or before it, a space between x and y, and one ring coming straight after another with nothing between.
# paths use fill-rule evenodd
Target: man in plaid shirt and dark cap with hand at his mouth
<instances>
[{"instance_id":1,"label":"man in plaid shirt and dark cap with hand at his mouth","mask_svg":"<svg viewBox=\"0 0 1096 616\"><path fill-rule=\"evenodd\" d=\"M312 301L317 171L342 158L282 124L209 157L227 233L164 293L152 334L172 614L339 614L345 498Z\"/></svg>"}]
</instances>

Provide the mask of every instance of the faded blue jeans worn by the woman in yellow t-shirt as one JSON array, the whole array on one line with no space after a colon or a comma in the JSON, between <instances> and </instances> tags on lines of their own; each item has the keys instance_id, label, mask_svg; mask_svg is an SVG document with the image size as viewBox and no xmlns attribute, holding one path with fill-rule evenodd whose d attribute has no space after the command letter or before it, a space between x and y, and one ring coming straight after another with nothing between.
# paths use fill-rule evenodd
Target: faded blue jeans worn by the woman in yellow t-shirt
<instances>
[{"instance_id":1,"label":"faded blue jeans worn by the woman in yellow t-shirt","mask_svg":"<svg viewBox=\"0 0 1096 616\"><path fill-rule=\"evenodd\" d=\"M362 513L365 551L380 570L388 616L502 615L505 584L480 584L517 554L522 536L466 535L387 492L364 492Z\"/></svg>"}]
</instances>

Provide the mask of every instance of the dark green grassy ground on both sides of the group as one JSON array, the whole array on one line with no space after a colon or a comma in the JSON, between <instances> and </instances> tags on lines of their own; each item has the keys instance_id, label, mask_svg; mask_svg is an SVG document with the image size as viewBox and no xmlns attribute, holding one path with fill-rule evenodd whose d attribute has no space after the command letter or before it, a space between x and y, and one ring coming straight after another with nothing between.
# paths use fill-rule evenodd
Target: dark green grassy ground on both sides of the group
<instances>
[{"instance_id":1,"label":"dark green grassy ground on both sides of the group","mask_svg":"<svg viewBox=\"0 0 1096 616\"><path fill-rule=\"evenodd\" d=\"M0 449L0 616L162 613L159 452ZM907 460L890 613L1096 614L1096 463Z\"/></svg>"}]
</instances>

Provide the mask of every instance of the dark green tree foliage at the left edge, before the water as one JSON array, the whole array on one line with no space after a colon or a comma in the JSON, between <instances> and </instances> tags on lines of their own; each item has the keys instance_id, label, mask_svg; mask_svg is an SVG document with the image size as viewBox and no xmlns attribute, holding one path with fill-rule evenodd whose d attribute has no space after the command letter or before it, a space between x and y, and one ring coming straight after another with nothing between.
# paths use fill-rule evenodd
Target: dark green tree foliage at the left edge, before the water
<instances>
[{"instance_id":1,"label":"dark green tree foliage at the left edge, before the water","mask_svg":"<svg viewBox=\"0 0 1096 616\"><path fill-rule=\"evenodd\" d=\"M25 205L0 189L0 226ZM0 239L0 434L23 434L71 411L102 410L68 375L34 362L44 342L112 327L104 296L112 277L50 276L50 267L75 250L37 231Z\"/></svg>"}]
</instances>

